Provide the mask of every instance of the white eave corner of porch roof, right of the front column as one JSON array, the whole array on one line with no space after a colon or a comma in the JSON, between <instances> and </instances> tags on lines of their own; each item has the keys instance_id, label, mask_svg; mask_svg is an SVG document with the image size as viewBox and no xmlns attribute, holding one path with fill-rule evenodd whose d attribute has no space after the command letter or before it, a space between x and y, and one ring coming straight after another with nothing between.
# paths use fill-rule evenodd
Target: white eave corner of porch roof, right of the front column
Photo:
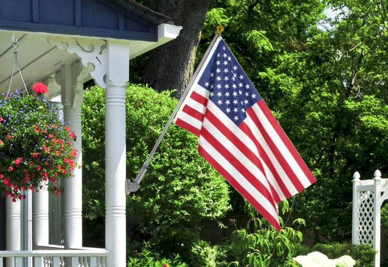
<instances>
[{"instance_id":1,"label":"white eave corner of porch roof, right of the front column","mask_svg":"<svg viewBox=\"0 0 388 267\"><path fill-rule=\"evenodd\" d=\"M132 59L138 55L144 54L162 44L176 39L179 36L182 26L176 26L169 23L158 25L158 41L131 41L129 42L129 58Z\"/></svg>"}]
</instances>

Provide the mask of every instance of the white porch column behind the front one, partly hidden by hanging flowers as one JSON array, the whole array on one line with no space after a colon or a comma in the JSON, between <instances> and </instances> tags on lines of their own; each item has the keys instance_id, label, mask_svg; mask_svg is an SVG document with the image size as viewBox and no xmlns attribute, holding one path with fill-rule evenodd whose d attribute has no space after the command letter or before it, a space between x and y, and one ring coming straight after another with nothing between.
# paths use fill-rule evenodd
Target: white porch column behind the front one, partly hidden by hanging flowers
<instances>
[{"instance_id":1,"label":"white porch column behind the front one, partly hidden by hanging flowers","mask_svg":"<svg viewBox=\"0 0 388 267\"><path fill-rule=\"evenodd\" d=\"M78 62L62 65L60 72L61 98L64 120L74 131L78 150L76 162L82 164L81 104L84 88L77 84L82 67ZM82 168L73 170L74 177L62 180L65 249L82 247Z\"/></svg>"}]
</instances>

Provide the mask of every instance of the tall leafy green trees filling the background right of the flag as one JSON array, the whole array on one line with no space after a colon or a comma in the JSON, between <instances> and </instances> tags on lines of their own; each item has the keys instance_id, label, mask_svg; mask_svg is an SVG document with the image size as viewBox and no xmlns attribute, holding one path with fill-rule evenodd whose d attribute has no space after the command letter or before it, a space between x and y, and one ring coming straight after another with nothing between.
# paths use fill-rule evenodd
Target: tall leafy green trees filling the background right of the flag
<instances>
[{"instance_id":1,"label":"tall leafy green trees filling the background right of the flag","mask_svg":"<svg viewBox=\"0 0 388 267\"><path fill-rule=\"evenodd\" d=\"M337 17L325 17L324 8ZM214 28L258 88L317 183L292 200L319 241L350 238L351 180L388 171L384 1L214 1ZM232 193L233 212L242 200ZM291 220L292 221L292 220Z\"/></svg>"}]
</instances>

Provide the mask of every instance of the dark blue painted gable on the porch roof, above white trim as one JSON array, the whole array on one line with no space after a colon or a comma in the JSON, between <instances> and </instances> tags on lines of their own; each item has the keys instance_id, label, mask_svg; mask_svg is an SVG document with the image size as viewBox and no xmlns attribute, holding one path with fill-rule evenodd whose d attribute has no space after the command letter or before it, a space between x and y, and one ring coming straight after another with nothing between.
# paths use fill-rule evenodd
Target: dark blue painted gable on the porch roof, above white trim
<instances>
[{"instance_id":1,"label":"dark blue painted gable on the porch roof, above white trim","mask_svg":"<svg viewBox=\"0 0 388 267\"><path fill-rule=\"evenodd\" d=\"M169 18L132 0L0 0L0 29L157 41Z\"/></svg>"}]
</instances>

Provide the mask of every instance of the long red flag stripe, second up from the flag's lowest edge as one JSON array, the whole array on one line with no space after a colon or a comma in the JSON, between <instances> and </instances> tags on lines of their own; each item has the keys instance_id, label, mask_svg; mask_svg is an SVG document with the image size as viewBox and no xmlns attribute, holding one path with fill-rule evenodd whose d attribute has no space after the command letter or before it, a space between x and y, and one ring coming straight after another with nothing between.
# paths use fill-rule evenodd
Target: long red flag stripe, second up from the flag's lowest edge
<instances>
[{"instance_id":1,"label":"long red flag stripe, second up from the flag's lowest edge","mask_svg":"<svg viewBox=\"0 0 388 267\"><path fill-rule=\"evenodd\" d=\"M206 115L207 116L207 115ZM219 154L235 167L245 179L255 187L276 210L276 205L273 201L271 193L268 189L249 171L229 150L225 148L207 129L202 127L201 136L205 138Z\"/></svg>"}]
</instances>

